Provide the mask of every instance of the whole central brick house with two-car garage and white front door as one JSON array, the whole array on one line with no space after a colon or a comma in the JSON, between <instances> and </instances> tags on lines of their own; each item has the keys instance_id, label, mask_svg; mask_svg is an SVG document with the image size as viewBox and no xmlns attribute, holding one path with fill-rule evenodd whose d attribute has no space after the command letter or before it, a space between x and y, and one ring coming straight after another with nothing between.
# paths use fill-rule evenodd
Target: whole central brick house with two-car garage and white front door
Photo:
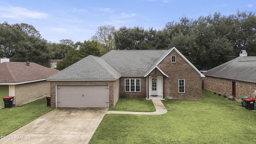
<instances>
[{"instance_id":1,"label":"whole central brick house with two-car garage and white front door","mask_svg":"<svg viewBox=\"0 0 256 144\"><path fill-rule=\"evenodd\" d=\"M204 75L175 47L112 50L51 76L52 107L114 108L119 97L201 99Z\"/></svg>"}]
</instances>

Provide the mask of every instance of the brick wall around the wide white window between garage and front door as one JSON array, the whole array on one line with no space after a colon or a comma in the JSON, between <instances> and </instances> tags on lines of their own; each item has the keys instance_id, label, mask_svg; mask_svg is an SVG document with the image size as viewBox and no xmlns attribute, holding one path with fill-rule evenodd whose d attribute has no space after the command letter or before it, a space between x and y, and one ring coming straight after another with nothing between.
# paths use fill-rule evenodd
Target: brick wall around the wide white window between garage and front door
<instances>
[{"instance_id":1,"label":"brick wall around the wide white window between garage and front door","mask_svg":"<svg viewBox=\"0 0 256 144\"><path fill-rule=\"evenodd\" d=\"M140 92L125 92L125 79L140 79ZM146 98L147 78L145 77L121 77L120 78L120 97L123 98Z\"/></svg>"}]
</instances>

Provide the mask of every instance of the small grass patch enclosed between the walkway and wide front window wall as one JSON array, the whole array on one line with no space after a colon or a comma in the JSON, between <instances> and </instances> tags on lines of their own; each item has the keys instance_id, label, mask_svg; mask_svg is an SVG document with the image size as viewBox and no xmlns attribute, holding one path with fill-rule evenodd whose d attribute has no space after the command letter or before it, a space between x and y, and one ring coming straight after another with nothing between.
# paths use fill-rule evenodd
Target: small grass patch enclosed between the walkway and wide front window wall
<instances>
[{"instance_id":1,"label":"small grass patch enclosed between the walkway and wide front window wall","mask_svg":"<svg viewBox=\"0 0 256 144\"><path fill-rule=\"evenodd\" d=\"M119 98L114 108L109 111L154 112L156 108L152 100L146 98Z\"/></svg>"}]
</instances>

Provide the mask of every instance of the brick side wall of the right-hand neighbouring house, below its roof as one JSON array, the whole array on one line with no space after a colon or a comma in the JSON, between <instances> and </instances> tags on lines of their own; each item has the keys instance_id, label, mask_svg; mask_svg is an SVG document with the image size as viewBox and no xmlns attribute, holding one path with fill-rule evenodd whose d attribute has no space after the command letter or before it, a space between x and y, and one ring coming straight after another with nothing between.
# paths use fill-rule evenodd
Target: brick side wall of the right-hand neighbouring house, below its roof
<instances>
[{"instance_id":1,"label":"brick side wall of the right-hand neighbouring house, below its roof","mask_svg":"<svg viewBox=\"0 0 256 144\"><path fill-rule=\"evenodd\" d=\"M254 98L256 83L216 78L211 76L206 76L203 78L203 80L204 89L227 96L232 95L232 82L236 82L236 99L241 100L241 97L243 96L250 96L251 98Z\"/></svg>"}]
</instances>

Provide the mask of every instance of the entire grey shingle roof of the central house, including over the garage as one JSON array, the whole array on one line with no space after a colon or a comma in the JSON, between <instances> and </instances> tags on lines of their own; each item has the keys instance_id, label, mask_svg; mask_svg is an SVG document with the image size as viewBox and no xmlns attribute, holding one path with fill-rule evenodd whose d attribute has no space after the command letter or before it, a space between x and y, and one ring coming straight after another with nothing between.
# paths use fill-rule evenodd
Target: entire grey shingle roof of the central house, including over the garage
<instances>
[{"instance_id":1,"label":"entire grey shingle roof of the central house, including over the garage","mask_svg":"<svg viewBox=\"0 0 256 144\"><path fill-rule=\"evenodd\" d=\"M174 48L112 50L101 57L90 55L47 80L117 80L121 76L144 77L172 50Z\"/></svg>"}]
</instances>

